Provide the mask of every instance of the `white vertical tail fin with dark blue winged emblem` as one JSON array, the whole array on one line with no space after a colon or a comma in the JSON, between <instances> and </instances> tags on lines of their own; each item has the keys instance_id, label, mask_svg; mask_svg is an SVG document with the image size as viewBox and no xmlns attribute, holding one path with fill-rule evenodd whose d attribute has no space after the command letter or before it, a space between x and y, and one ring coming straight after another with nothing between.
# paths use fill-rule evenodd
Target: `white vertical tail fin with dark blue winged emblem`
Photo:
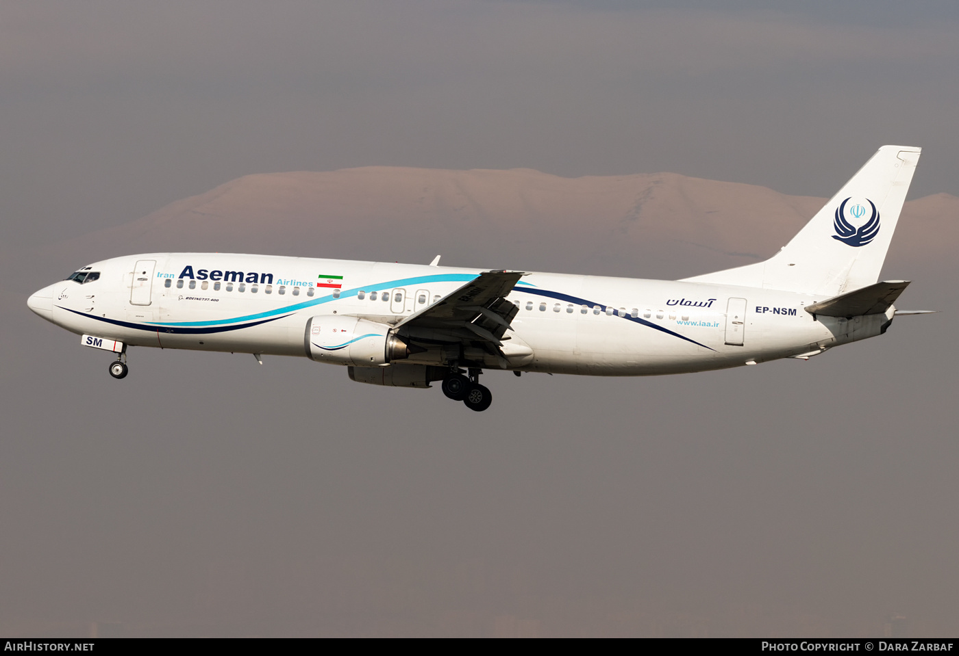
<instances>
[{"instance_id":1,"label":"white vertical tail fin with dark blue winged emblem","mask_svg":"<svg viewBox=\"0 0 959 656\"><path fill-rule=\"evenodd\" d=\"M880 147L772 258L685 281L829 296L876 283L921 152Z\"/></svg>"}]
</instances>

